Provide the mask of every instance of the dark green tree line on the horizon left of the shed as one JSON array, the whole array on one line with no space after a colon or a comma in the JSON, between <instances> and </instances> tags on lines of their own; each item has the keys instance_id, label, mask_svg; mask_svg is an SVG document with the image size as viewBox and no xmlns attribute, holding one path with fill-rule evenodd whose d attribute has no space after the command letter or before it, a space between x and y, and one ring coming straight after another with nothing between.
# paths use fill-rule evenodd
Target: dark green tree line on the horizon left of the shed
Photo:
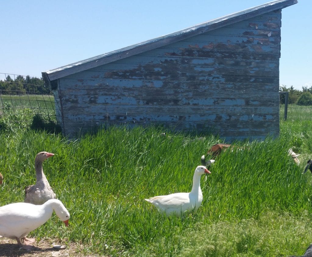
<instances>
[{"instance_id":1,"label":"dark green tree line on the horizon left of the shed","mask_svg":"<svg viewBox=\"0 0 312 257\"><path fill-rule=\"evenodd\" d=\"M7 95L25 94L52 94L51 88L44 85L42 78L18 75L14 79L7 75L5 80L0 80L0 93Z\"/></svg>"}]
</instances>

